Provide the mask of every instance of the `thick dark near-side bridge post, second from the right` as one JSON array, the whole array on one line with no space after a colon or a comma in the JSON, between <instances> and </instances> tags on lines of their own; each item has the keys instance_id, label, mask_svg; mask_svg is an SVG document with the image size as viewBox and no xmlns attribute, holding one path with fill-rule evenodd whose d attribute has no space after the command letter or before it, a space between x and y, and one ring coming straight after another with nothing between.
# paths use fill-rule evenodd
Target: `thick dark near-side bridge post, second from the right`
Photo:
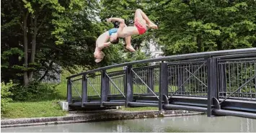
<instances>
[{"instance_id":1,"label":"thick dark near-side bridge post, second from the right","mask_svg":"<svg viewBox=\"0 0 256 133\"><path fill-rule=\"evenodd\" d=\"M164 95L168 96L168 85L167 85L167 63L162 61L159 70L159 111L162 111L162 101L164 101Z\"/></svg>"}]
</instances>

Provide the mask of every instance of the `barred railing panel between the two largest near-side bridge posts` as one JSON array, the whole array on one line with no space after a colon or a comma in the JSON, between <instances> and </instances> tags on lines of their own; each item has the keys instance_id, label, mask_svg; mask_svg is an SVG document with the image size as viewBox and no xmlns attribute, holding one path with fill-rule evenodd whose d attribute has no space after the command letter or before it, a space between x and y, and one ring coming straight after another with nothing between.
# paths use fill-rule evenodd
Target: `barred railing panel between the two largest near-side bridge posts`
<instances>
[{"instance_id":1,"label":"barred railing panel between the two largest near-side bridge posts","mask_svg":"<svg viewBox=\"0 0 256 133\"><path fill-rule=\"evenodd\" d=\"M169 63L168 88L171 96L207 97L207 60Z\"/></svg>"}]
</instances>

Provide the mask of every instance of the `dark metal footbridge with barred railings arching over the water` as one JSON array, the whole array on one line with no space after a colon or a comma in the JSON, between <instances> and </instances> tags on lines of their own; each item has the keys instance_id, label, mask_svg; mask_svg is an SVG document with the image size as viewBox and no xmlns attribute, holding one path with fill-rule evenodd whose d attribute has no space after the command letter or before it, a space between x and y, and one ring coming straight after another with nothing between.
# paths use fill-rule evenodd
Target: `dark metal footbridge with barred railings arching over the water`
<instances>
[{"instance_id":1,"label":"dark metal footbridge with barred railings arching over the water","mask_svg":"<svg viewBox=\"0 0 256 133\"><path fill-rule=\"evenodd\" d=\"M67 80L69 109L154 106L256 119L256 48L136 60Z\"/></svg>"}]
</instances>

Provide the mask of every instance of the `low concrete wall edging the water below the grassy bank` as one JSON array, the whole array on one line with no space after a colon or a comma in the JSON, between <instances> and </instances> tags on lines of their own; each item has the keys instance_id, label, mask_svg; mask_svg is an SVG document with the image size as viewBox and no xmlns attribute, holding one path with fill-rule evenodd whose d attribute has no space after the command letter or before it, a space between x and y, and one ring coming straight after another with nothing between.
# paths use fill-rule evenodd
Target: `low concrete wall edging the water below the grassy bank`
<instances>
[{"instance_id":1,"label":"low concrete wall edging the water below the grassy bank","mask_svg":"<svg viewBox=\"0 0 256 133\"><path fill-rule=\"evenodd\" d=\"M25 119L4 119L1 120L1 128L35 126L44 124L66 124L87 121L110 121L118 119L139 119L158 116L185 116L202 114L195 111L97 111L84 114L69 114L69 116L40 117Z\"/></svg>"}]
</instances>

